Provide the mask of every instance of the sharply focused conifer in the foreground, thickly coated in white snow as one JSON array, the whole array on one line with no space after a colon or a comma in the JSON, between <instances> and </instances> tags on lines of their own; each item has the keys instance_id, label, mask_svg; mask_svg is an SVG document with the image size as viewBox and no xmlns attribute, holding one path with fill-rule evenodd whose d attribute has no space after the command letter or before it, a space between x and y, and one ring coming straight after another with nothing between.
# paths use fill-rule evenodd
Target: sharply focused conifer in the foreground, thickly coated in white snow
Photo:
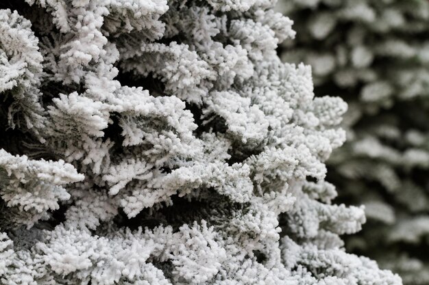
<instances>
[{"instance_id":1,"label":"sharply focused conifer in the foreground, thickly coated in white snow","mask_svg":"<svg viewBox=\"0 0 429 285\"><path fill-rule=\"evenodd\" d=\"M343 249L347 105L273 1L1 5L1 284L401 284Z\"/></svg>"}]
</instances>

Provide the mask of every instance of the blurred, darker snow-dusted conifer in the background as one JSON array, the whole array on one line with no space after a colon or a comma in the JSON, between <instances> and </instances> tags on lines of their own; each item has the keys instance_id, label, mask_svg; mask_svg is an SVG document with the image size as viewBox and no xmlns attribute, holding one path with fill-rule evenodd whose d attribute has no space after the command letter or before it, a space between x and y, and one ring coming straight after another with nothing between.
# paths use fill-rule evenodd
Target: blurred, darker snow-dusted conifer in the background
<instances>
[{"instance_id":1,"label":"blurred, darker snow-dusted conifer in the background","mask_svg":"<svg viewBox=\"0 0 429 285\"><path fill-rule=\"evenodd\" d=\"M315 94L349 104L328 181L337 201L365 204L368 223L346 248L429 284L429 2L279 4L299 31L282 59L310 64Z\"/></svg>"}]
</instances>

